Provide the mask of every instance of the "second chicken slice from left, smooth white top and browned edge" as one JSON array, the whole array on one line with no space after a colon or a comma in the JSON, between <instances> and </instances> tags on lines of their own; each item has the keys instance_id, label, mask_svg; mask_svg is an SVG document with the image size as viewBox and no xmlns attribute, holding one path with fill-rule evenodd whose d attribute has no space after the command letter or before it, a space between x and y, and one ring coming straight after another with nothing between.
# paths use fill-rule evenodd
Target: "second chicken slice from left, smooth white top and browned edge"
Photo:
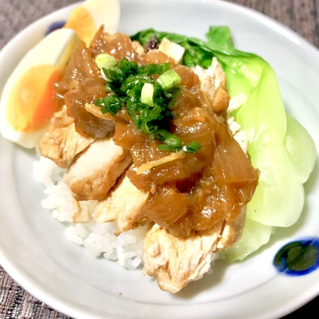
<instances>
[{"instance_id":1,"label":"second chicken slice from left, smooth white top and browned edge","mask_svg":"<svg viewBox=\"0 0 319 319\"><path fill-rule=\"evenodd\" d=\"M96 140L77 156L64 181L77 200L101 200L131 162L130 153L112 138Z\"/></svg>"}]
</instances>

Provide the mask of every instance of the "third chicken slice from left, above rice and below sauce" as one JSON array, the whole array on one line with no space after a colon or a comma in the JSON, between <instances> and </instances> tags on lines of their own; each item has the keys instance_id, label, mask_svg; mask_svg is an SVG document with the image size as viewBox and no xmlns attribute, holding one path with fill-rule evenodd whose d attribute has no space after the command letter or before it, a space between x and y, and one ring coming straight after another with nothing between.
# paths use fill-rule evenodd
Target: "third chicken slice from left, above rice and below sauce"
<instances>
[{"instance_id":1,"label":"third chicken slice from left, above rice and below sauce","mask_svg":"<svg viewBox=\"0 0 319 319\"><path fill-rule=\"evenodd\" d=\"M120 234L144 223L142 208L147 202L149 192L135 187L125 174L117 181L107 198L98 202L95 208L95 222L116 221Z\"/></svg>"}]
</instances>

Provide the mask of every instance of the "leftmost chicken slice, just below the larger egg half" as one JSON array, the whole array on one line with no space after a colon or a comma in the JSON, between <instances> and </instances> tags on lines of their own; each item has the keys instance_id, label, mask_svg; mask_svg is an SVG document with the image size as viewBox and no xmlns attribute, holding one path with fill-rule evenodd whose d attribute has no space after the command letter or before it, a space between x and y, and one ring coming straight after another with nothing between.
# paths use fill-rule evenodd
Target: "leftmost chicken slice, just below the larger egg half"
<instances>
[{"instance_id":1,"label":"leftmost chicken slice, just below the larger egg half","mask_svg":"<svg viewBox=\"0 0 319 319\"><path fill-rule=\"evenodd\" d=\"M76 132L73 119L66 114L66 107L56 112L47 132L38 143L39 152L60 167L68 167L77 154L95 139Z\"/></svg>"}]
</instances>

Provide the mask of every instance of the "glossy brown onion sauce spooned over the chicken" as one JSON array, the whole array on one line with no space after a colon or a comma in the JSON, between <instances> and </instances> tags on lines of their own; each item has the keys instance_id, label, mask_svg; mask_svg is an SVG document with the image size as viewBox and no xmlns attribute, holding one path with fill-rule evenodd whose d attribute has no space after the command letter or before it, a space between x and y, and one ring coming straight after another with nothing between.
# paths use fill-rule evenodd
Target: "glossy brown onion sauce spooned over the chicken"
<instances>
[{"instance_id":1,"label":"glossy brown onion sauce spooned over the chicken","mask_svg":"<svg viewBox=\"0 0 319 319\"><path fill-rule=\"evenodd\" d=\"M89 48L80 44L75 50L62 80L56 84L58 98L64 97L68 115L75 120L76 129L102 138L110 131L109 121L94 117L84 108L106 95L105 81L94 62L100 53L113 55L117 61L126 57L139 64L169 62L181 77L182 86L172 112L170 133L184 144L196 141L201 149L185 154L182 159L161 164L142 174L129 170L131 182L150 191L143 209L162 227L175 236L188 236L191 230L211 227L221 220L232 220L251 199L258 182L258 171L246 158L226 127L225 114L217 116L213 101L200 90L198 76L158 50L138 55L130 37L116 33L97 32ZM225 90L225 88L223 88ZM227 91L226 91L227 92ZM228 93L227 93L228 95ZM224 103L225 110L228 99ZM227 105L226 105L227 104ZM135 167L169 155L157 149L160 142L139 132L123 108L115 116L114 142L130 151Z\"/></svg>"}]
</instances>

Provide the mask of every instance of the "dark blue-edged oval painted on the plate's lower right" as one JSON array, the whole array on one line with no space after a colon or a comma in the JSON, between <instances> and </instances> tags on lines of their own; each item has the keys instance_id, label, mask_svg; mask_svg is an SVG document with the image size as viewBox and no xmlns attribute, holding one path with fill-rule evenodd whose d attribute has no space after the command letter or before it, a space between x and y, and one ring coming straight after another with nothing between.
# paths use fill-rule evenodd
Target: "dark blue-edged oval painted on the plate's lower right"
<instances>
[{"instance_id":1,"label":"dark blue-edged oval painted on the plate's lower right","mask_svg":"<svg viewBox=\"0 0 319 319\"><path fill-rule=\"evenodd\" d=\"M275 255L273 265L281 273L301 276L319 267L319 237L303 238L283 246Z\"/></svg>"}]
</instances>

